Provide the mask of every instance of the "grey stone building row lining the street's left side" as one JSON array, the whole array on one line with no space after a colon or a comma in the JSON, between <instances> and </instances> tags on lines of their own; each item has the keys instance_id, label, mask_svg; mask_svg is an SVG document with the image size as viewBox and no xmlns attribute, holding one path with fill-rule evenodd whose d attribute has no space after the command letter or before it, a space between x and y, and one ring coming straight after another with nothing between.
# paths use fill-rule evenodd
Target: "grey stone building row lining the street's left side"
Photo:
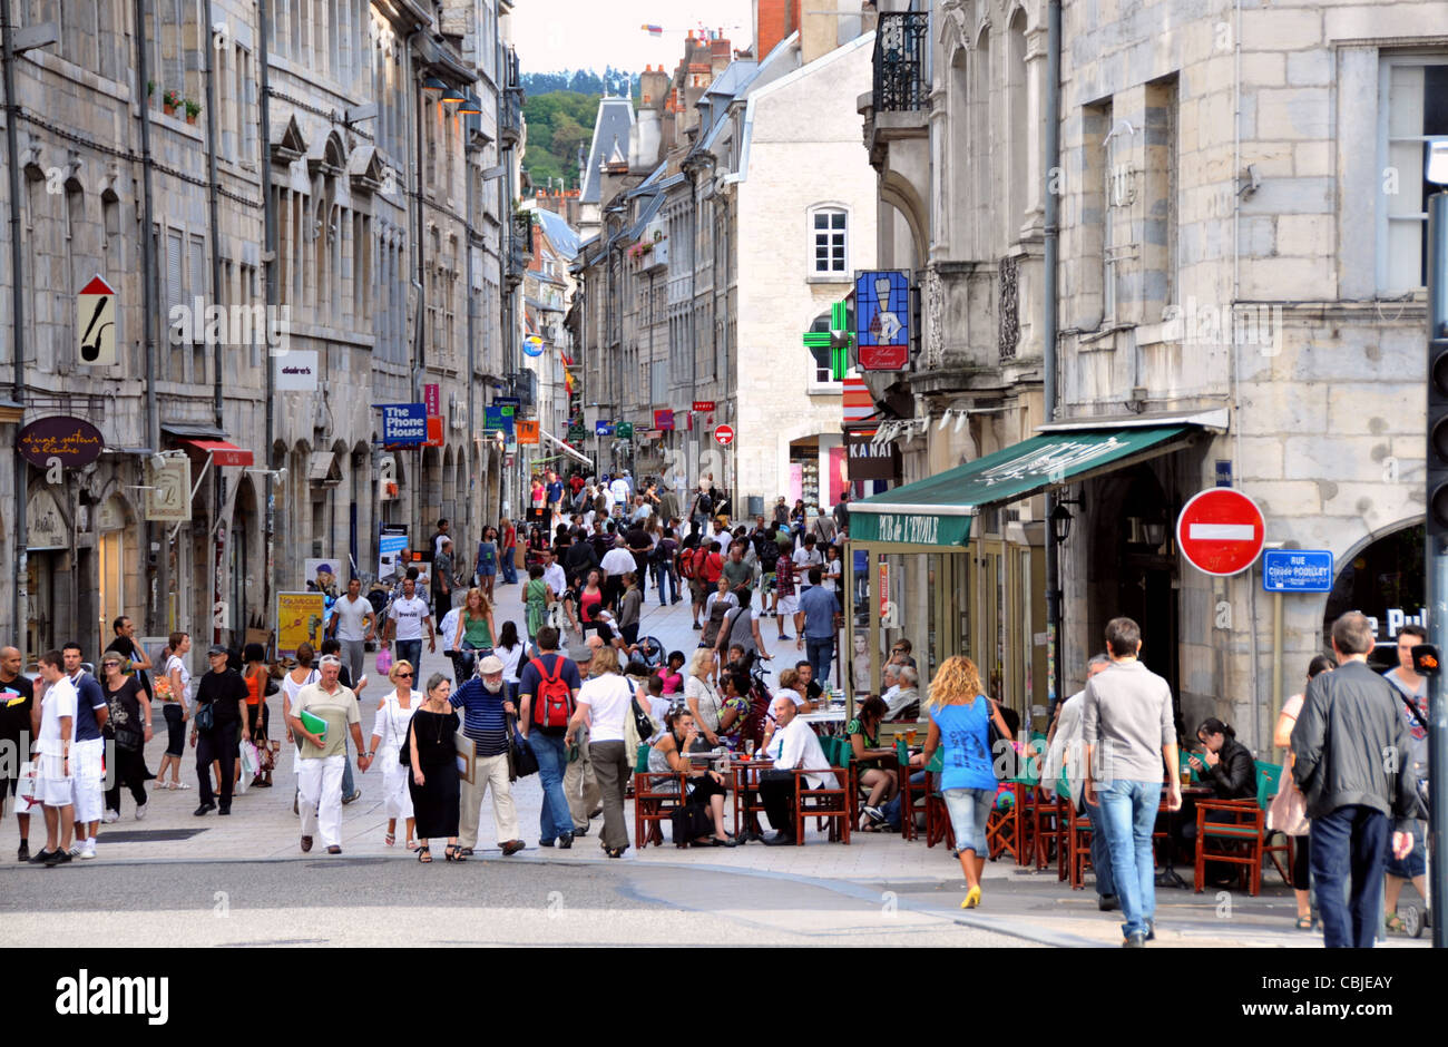
<instances>
[{"instance_id":1,"label":"grey stone building row lining the street's left side","mask_svg":"<svg viewBox=\"0 0 1448 1047\"><path fill-rule=\"evenodd\" d=\"M449 516L473 536L495 518L501 452L472 433L518 369L502 290L517 181L484 177L521 143L511 4L269 0L265 39L261 7L232 0L211 0L210 26L207 4L151 0L139 33L132 0L12 7L59 41L14 62L25 323L10 337L4 294L0 368L17 343L25 368L0 439L64 414L104 450L61 484L19 456L0 475L0 572L22 581L0 636L28 657L70 639L98 653L126 613L198 649L239 643L274 626L278 591L304 588L304 559L371 579L381 523L421 537ZM116 290L114 366L77 353L93 275ZM6 252L0 284L14 277ZM284 388L306 371L316 390ZM374 405L430 384L443 446L384 452ZM175 458L190 518L146 521Z\"/></svg>"}]
</instances>

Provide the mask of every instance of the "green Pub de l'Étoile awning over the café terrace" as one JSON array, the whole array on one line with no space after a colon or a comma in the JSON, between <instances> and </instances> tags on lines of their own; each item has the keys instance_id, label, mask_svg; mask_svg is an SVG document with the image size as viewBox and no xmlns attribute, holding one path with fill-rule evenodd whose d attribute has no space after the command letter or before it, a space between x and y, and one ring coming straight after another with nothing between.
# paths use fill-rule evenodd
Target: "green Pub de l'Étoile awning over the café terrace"
<instances>
[{"instance_id":1,"label":"green Pub de l'\u00c9toile awning over the caf\u00e9 terrace","mask_svg":"<svg viewBox=\"0 0 1448 1047\"><path fill-rule=\"evenodd\" d=\"M1164 453L1193 426L1141 426L1050 433L928 479L850 503L851 542L904 542L960 546L970 540L970 518L980 507L1019 501L1111 472L1127 459Z\"/></svg>"}]
</instances>

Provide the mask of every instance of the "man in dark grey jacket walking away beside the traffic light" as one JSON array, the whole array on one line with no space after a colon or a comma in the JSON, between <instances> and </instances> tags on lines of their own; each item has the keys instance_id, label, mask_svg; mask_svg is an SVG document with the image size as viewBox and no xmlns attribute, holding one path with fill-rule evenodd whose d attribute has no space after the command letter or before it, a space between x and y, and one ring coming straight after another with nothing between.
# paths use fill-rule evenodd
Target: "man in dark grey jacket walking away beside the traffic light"
<instances>
[{"instance_id":1,"label":"man in dark grey jacket walking away beside the traffic light","mask_svg":"<svg viewBox=\"0 0 1448 1047\"><path fill-rule=\"evenodd\" d=\"M1292 730L1292 773L1312 820L1312 878L1328 949L1371 949L1383 898L1389 815L1393 854L1413 847L1418 781L1407 724L1392 685L1367 666L1368 620L1348 611L1332 623L1335 672L1318 673ZM1344 888L1351 893L1344 904Z\"/></svg>"}]
</instances>

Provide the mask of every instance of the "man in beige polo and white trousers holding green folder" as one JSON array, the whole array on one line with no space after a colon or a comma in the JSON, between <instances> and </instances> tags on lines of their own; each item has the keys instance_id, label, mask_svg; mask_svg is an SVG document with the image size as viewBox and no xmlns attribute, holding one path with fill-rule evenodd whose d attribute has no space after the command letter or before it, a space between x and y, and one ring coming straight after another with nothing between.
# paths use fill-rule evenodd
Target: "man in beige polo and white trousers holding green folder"
<instances>
[{"instance_id":1,"label":"man in beige polo and white trousers holding green folder","mask_svg":"<svg viewBox=\"0 0 1448 1047\"><path fill-rule=\"evenodd\" d=\"M346 736L358 747L358 770L372 765L374 753L362 744L362 711L358 697L343 686L342 659L321 656L321 679L297 692L288 721L294 737L301 739L297 762L297 791L301 807L301 850L311 850L311 838L321 833L329 854L342 853L342 770L348 762ZM242 691L245 698L245 688ZM303 720L303 714L307 718ZM320 724L317 721L321 721ZM313 730L319 728L319 730Z\"/></svg>"}]
</instances>

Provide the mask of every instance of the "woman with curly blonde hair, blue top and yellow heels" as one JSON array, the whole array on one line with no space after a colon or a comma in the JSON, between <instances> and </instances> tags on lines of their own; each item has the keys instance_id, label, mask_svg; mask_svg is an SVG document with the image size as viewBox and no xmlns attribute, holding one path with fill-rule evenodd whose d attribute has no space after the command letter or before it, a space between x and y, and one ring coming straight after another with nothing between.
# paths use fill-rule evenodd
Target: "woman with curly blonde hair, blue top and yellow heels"
<instances>
[{"instance_id":1,"label":"woman with curly blonde hair, blue top and yellow heels","mask_svg":"<svg viewBox=\"0 0 1448 1047\"><path fill-rule=\"evenodd\" d=\"M973 909L980 904L980 872L989 853L986 820L995 807L996 791L988 723L993 717L1003 737L1011 737L1011 731L1001 710L980 692L980 670L969 657L946 659L930 682L924 707L930 715L924 762L928 765L937 749L944 750L940 789L956 830L960 869L970 888L960 908Z\"/></svg>"}]
</instances>

